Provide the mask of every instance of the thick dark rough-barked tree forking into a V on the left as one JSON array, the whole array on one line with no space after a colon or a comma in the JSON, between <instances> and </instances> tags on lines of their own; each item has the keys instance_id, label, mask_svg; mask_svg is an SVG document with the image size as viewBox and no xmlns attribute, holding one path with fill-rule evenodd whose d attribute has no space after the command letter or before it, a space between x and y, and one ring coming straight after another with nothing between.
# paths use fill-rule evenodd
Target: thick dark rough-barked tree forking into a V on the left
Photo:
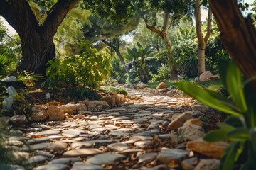
<instances>
[{"instance_id":1,"label":"thick dark rough-barked tree forking into a V on the left","mask_svg":"<svg viewBox=\"0 0 256 170\"><path fill-rule=\"evenodd\" d=\"M22 60L19 69L46 75L46 63L55 57L53 36L68 11L78 0L59 0L42 25L26 0L0 1L0 15L16 30L21 38Z\"/></svg>"}]
</instances>

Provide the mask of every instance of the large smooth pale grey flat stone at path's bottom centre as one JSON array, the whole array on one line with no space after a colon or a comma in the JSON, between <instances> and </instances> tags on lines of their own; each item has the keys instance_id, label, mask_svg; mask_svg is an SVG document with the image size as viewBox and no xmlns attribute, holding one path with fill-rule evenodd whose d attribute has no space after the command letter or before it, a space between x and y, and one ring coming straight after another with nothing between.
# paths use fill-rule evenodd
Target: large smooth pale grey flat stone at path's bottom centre
<instances>
[{"instance_id":1,"label":"large smooth pale grey flat stone at path's bottom centre","mask_svg":"<svg viewBox=\"0 0 256 170\"><path fill-rule=\"evenodd\" d=\"M91 157L86 160L87 164L111 164L114 162L118 162L121 159L125 159L126 156L122 154L115 154L111 152L107 152L104 154L97 154L94 157Z\"/></svg>"}]
</instances>

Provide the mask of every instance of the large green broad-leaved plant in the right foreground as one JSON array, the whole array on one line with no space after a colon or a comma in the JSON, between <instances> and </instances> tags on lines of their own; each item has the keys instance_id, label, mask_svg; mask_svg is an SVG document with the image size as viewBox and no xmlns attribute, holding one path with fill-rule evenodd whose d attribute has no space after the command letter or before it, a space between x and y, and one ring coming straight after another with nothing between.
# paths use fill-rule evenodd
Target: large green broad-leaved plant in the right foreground
<instances>
[{"instance_id":1,"label":"large green broad-leaved plant in the right foreground","mask_svg":"<svg viewBox=\"0 0 256 170\"><path fill-rule=\"evenodd\" d=\"M230 114L225 123L219 124L219 130L210 131L204 137L209 142L231 142L220 160L220 169L233 169L234 164L242 160L241 169L255 169L253 157L256 155L256 91L250 84L242 84L242 73L234 63L221 62L220 77L230 94L228 98L189 82L181 81L175 85L201 103ZM241 159L242 157L246 159Z\"/></svg>"}]
</instances>

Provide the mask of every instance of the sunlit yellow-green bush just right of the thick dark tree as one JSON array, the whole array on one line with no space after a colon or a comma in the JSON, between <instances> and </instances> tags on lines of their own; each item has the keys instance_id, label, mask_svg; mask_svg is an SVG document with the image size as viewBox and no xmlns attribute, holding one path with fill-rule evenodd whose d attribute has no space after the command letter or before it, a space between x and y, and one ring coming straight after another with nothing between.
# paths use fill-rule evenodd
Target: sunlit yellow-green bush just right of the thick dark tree
<instances>
[{"instance_id":1,"label":"sunlit yellow-green bush just right of the thick dark tree","mask_svg":"<svg viewBox=\"0 0 256 170\"><path fill-rule=\"evenodd\" d=\"M48 62L46 74L49 79L96 87L107 77L110 72L110 55L106 51L99 52L89 41L81 42L80 45L80 55Z\"/></svg>"}]
</instances>

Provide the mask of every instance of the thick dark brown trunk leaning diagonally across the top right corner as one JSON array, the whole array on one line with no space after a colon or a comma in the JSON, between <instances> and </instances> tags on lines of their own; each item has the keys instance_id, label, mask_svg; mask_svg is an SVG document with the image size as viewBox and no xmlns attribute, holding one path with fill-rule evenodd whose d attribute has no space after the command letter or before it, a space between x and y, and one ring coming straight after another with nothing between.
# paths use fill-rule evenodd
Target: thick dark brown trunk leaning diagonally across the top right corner
<instances>
[{"instance_id":1,"label":"thick dark brown trunk leaning diagonally across the top right corner","mask_svg":"<svg viewBox=\"0 0 256 170\"><path fill-rule=\"evenodd\" d=\"M236 0L210 0L220 40L242 73L256 89L256 30L250 16L243 18Z\"/></svg>"}]
</instances>

